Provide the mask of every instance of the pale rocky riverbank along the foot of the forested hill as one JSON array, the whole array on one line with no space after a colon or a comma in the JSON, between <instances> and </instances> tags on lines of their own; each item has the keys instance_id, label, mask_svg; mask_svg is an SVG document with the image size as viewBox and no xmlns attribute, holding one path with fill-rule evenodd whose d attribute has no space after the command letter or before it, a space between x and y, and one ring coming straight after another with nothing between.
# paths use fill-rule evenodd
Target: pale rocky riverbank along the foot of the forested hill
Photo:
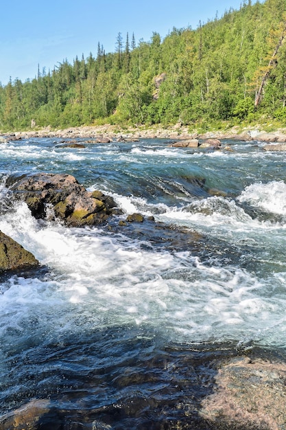
<instances>
[{"instance_id":1,"label":"pale rocky riverbank along the foot of the forested hill","mask_svg":"<svg viewBox=\"0 0 286 430\"><path fill-rule=\"evenodd\" d=\"M123 127L105 124L103 126L80 126L65 129L52 130L49 126L39 130L19 131L0 136L0 143L6 139L29 139L33 137L62 137L63 139L94 139L99 143L108 143L109 140L132 139L237 139L240 141L258 140L261 142L286 142L286 128L274 132L263 131L258 128L244 128L242 131L236 126L228 131L209 131L207 133L191 133L187 126L176 124L163 127L152 126L150 128Z\"/></svg>"}]
</instances>

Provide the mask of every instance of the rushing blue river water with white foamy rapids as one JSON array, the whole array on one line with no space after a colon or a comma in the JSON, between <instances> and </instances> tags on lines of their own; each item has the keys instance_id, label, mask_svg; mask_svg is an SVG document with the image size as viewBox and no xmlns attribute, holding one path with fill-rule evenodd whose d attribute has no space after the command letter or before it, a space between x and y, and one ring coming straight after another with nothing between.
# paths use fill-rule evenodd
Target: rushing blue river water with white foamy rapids
<instances>
[{"instance_id":1,"label":"rushing blue river water with white foamy rapids","mask_svg":"<svg viewBox=\"0 0 286 430\"><path fill-rule=\"evenodd\" d=\"M285 155L58 143L1 144L0 230L41 268L1 277L0 416L45 399L33 429L211 429L198 409L213 361L286 350ZM73 174L123 215L35 220L5 179L41 171ZM145 222L119 225L134 212Z\"/></svg>"}]
</instances>

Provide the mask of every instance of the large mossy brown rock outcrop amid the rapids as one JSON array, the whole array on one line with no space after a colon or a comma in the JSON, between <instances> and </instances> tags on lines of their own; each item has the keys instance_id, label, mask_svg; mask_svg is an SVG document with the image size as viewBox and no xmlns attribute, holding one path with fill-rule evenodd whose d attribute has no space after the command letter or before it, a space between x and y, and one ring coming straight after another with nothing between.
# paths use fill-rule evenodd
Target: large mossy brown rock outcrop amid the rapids
<instances>
[{"instance_id":1,"label":"large mossy brown rock outcrop amid the rapids","mask_svg":"<svg viewBox=\"0 0 286 430\"><path fill-rule=\"evenodd\" d=\"M67 225L79 227L103 223L116 203L102 192L88 192L71 174L37 173L11 176L6 185L16 198L27 203L32 215L51 214Z\"/></svg>"}]
</instances>

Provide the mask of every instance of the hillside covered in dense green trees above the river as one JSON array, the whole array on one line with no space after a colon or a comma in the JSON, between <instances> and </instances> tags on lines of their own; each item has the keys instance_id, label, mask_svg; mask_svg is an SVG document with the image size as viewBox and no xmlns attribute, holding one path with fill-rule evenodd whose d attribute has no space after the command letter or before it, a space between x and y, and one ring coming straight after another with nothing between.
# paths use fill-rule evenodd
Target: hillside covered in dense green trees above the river
<instances>
[{"instance_id":1,"label":"hillside covered in dense green trees above the river","mask_svg":"<svg viewBox=\"0 0 286 430\"><path fill-rule=\"evenodd\" d=\"M187 21L187 17L186 17ZM82 124L286 123L286 1L244 1L196 30L64 60L0 87L0 129Z\"/></svg>"}]
</instances>

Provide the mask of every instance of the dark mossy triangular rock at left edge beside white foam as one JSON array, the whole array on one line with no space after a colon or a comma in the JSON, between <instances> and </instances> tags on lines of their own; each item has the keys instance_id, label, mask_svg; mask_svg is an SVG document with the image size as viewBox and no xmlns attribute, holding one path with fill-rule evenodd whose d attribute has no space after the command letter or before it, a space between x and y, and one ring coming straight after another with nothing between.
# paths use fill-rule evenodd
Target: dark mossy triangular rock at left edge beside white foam
<instances>
[{"instance_id":1,"label":"dark mossy triangular rock at left edge beside white foam","mask_svg":"<svg viewBox=\"0 0 286 430\"><path fill-rule=\"evenodd\" d=\"M32 269L38 265L32 253L0 231L0 271Z\"/></svg>"}]
</instances>

